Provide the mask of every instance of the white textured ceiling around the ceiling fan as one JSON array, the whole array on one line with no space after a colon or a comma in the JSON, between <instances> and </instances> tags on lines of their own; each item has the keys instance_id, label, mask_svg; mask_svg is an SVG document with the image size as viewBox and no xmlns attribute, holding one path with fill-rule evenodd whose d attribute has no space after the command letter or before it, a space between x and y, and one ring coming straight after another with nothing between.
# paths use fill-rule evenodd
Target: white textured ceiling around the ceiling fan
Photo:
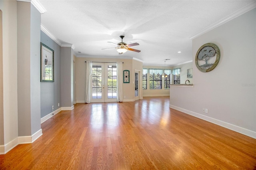
<instances>
[{"instance_id":1,"label":"white textured ceiling around the ceiling fan","mask_svg":"<svg viewBox=\"0 0 256 170\"><path fill-rule=\"evenodd\" d=\"M39 0L42 25L61 43L73 44L78 57L136 58L143 65L192 61L192 36L234 16L255 0ZM137 42L119 55L108 42ZM220 42L221 43L221 42ZM203 45L203 44L202 44ZM78 53L80 51L81 53ZM182 51L182 53L177 53Z\"/></svg>"}]
</instances>

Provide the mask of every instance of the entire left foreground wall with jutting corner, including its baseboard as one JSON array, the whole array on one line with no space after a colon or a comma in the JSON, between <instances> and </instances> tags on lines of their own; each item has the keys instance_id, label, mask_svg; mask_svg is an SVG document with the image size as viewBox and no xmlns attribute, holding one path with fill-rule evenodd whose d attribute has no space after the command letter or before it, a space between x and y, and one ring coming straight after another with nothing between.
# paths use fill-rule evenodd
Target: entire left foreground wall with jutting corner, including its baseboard
<instances>
[{"instance_id":1,"label":"entire left foreground wall with jutting corner, including its baseboard","mask_svg":"<svg viewBox=\"0 0 256 170\"><path fill-rule=\"evenodd\" d=\"M4 125L0 126L0 138L3 138L0 154L5 154L17 144L31 143L42 135L38 81L40 12L30 2L0 1L0 6L3 14L1 119L4 119L1 121Z\"/></svg>"}]
</instances>

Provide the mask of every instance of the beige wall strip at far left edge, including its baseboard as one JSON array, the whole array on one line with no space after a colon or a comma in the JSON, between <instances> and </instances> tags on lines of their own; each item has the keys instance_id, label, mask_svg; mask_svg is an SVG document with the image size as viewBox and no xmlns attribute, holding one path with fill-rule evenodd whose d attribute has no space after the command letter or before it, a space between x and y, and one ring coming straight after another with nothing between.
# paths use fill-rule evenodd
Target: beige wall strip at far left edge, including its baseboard
<instances>
[{"instance_id":1,"label":"beige wall strip at far left edge, including its baseboard","mask_svg":"<svg viewBox=\"0 0 256 170\"><path fill-rule=\"evenodd\" d=\"M0 153L13 146L18 137L17 101L17 2L0 1L3 19L3 113ZM2 126L1 126L2 127ZM13 142L13 143L12 143Z\"/></svg>"}]
</instances>

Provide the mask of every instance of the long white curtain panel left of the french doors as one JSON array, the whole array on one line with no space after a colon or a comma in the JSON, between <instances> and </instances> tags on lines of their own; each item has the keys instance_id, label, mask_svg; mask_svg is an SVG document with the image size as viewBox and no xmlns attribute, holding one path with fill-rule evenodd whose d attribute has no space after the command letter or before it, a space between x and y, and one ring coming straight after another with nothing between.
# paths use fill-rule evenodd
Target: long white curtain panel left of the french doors
<instances>
[{"instance_id":1,"label":"long white curtain panel left of the french doors","mask_svg":"<svg viewBox=\"0 0 256 170\"><path fill-rule=\"evenodd\" d=\"M91 75L92 75L92 61L86 61L85 103L91 102Z\"/></svg>"}]
</instances>

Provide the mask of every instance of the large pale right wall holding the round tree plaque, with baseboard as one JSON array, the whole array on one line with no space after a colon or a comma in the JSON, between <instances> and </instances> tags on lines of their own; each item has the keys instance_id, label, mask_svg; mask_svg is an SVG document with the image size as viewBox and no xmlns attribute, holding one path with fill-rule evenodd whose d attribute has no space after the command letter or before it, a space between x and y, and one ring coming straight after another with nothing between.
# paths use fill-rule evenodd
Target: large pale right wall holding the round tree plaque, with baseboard
<instances>
[{"instance_id":1,"label":"large pale right wall holding the round tree plaque, with baseboard","mask_svg":"<svg viewBox=\"0 0 256 170\"><path fill-rule=\"evenodd\" d=\"M194 62L204 43L220 48L207 73ZM194 88L171 87L170 107L256 138L256 9L195 38L192 55Z\"/></svg>"}]
</instances>

